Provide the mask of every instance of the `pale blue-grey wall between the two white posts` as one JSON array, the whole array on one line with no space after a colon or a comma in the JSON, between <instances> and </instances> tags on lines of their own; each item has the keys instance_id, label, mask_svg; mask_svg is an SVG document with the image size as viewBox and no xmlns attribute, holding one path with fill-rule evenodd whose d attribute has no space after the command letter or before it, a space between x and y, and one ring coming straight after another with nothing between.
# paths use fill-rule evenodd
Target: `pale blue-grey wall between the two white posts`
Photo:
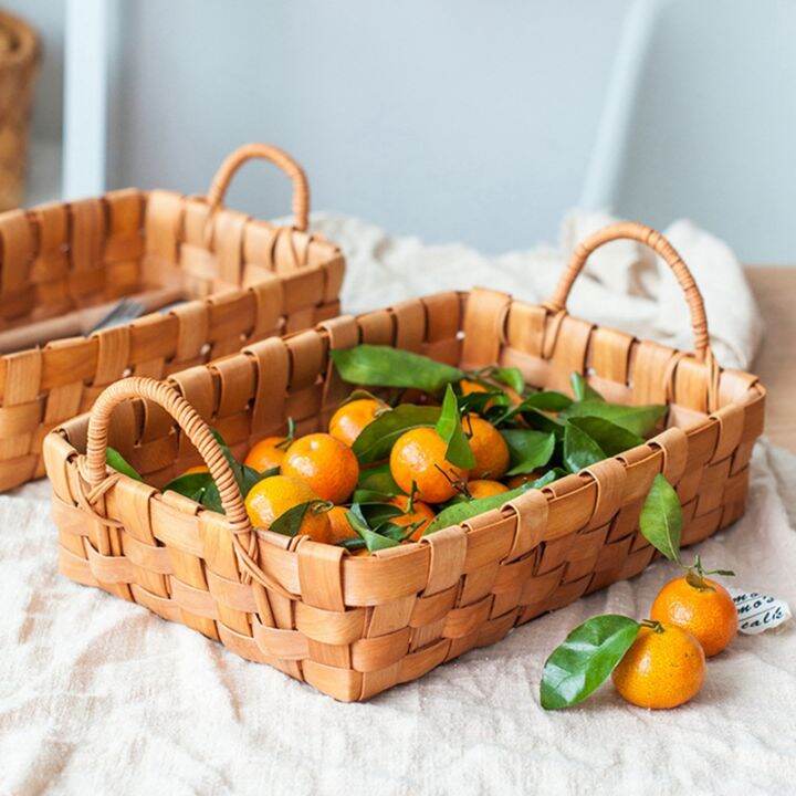
<instances>
[{"instance_id":1,"label":"pale blue-grey wall between the two white posts","mask_svg":"<svg viewBox=\"0 0 796 796\"><path fill-rule=\"evenodd\" d=\"M577 199L628 0L123 4L115 185L203 191L283 145L317 209L485 251L555 239ZM253 166L230 203L275 214Z\"/></svg>"}]
</instances>

